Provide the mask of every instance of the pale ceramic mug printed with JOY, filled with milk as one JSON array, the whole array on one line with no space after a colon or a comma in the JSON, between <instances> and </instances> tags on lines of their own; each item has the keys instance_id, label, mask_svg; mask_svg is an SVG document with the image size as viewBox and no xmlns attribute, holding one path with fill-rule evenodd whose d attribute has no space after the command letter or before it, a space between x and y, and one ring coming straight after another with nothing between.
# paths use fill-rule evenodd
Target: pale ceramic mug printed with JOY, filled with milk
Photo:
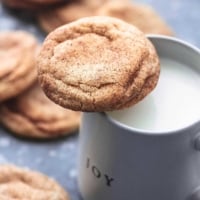
<instances>
[{"instance_id":1,"label":"pale ceramic mug printed with JOY, filled with milk","mask_svg":"<svg viewBox=\"0 0 200 200\"><path fill-rule=\"evenodd\" d=\"M149 38L161 60L161 75L162 64L168 59L172 61L170 66L175 62L193 70L194 74L184 73L183 77L192 77L194 86L200 83L200 51L197 48L175 38L153 35ZM172 70L176 70L175 64L173 66ZM200 85L199 93L198 88L196 92L192 89L191 94L184 93L188 89L184 85L187 87L189 84L185 83L183 88L176 85L179 90L171 94L174 101L185 94L178 100L183 111L187 110L186 104L181 103L192 101L191 109L194 109L200 93ZM187 98L187 94L194 97ZM154 97L159 99L159 95L158 89L158 95ZM160 100L160 109L164 100ZM180 114L181 109L176 110L179 103L170 105L174 101L164 104L165 108L167 106L162 111L167 113L166 124L156 120L156 112L152 115L152 111L148 111L152 109L151 105L144 105L147 106L144 110L136 109L143 112L143 117L138 114L142 123L133 120L137 115L131 116L132 108L114 113L83 114L78 184L84 200L200 200L200 105L184 117ZM134 109L131 112L136 112ZM161 119L164 117L162 112L158 112ZM180 120L177 119L179 115ZM146 121L150 123L146 124Z\"/></svg>"}]
</instances>

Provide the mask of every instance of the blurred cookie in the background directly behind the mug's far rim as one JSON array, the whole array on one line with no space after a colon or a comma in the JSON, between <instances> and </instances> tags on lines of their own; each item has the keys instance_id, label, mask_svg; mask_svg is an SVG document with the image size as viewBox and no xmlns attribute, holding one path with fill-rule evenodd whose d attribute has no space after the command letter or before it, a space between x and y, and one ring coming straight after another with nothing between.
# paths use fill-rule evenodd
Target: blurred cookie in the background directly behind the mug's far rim
<instances>
[{"instance_id":1,"label":"blurred cookie in the background directly behind the mug's far rim","mask_svg":"<svg viewBox=\"0 0 200 200\"><path fill-rule=\"evenodd\" d=\"M171 28L148 5L132 2L107 2L97 11L97 15L120 18L137 26L144 33L173 35Z\"/></svg>"}]
</instances>

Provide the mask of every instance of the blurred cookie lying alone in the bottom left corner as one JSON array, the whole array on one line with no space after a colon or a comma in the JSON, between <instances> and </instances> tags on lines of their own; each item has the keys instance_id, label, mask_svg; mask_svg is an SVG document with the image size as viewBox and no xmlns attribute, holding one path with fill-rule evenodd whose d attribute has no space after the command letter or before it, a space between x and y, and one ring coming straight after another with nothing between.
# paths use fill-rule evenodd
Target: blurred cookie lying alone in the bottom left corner
<instances>
[{"instance_id":1,"label":"blurred cookie lying alone in the bottom left corner","mask_svg":"<svg viewBox=\"0 0 200 200\"><path fill-rule=\"evenodd\" d=\"M0 165L1 200L68 200L65 190L48 176L14 165Z\"/></svg>"}]
</instances>

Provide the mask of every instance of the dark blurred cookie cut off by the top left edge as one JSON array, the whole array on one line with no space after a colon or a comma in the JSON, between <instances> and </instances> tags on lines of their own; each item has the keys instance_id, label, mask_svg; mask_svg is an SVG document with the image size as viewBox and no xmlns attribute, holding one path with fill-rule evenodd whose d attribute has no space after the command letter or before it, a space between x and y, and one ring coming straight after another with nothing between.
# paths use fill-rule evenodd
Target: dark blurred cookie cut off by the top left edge
<instances>
[{"instance_id":1,"label":"dark blurred cookie cut off by the top left edge","mask_svg":"<svg viewBox=\"0 0 200 200\"><path fill-rule=\"evenodd\" d=\"M2 0L2 2L10 8L40 10L47 6L64 3L65 0Z\"/></svg>"}]
</instances>

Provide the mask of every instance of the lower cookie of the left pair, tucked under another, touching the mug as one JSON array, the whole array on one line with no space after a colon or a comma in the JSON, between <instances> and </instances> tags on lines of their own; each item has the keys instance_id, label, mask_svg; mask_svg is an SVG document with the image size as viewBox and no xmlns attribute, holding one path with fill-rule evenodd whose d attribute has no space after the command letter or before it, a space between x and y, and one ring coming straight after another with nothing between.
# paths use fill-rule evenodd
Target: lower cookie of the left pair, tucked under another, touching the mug
<instances>
[{"instance_id":1,"label":"lower cookie of the left pair, tucked under another, touching the mug","mask_svg":"<svg viewBox=\"0 0 200 200\"><path fill-rule=\"evenodd\" d=\"M0 121L20 136L55 138L74 133L79 127L80 113L56 105L34 84L0 106Z\"/></svg>"}]
</instances>

